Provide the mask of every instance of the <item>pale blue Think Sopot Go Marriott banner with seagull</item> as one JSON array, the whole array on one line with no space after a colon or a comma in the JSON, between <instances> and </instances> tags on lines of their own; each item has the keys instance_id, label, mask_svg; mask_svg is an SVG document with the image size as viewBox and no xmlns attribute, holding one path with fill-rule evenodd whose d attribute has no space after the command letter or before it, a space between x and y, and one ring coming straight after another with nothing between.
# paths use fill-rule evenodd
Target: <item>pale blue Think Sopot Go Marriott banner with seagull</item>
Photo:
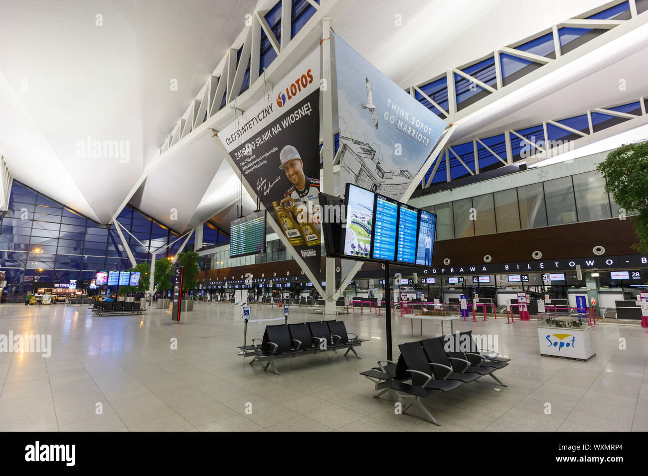
<instances>
[{"instance_id":1,"label":"pale blue Think Sopot Go Marriott banner with seagull","mask_svg":"<svg viewBox=\"0 0 648 476\"><path fill-rule=\"evenodd\" d=\"M448 125L380 73L339 36L340 188L400 199Z\"/></svg>"}]
</instances>

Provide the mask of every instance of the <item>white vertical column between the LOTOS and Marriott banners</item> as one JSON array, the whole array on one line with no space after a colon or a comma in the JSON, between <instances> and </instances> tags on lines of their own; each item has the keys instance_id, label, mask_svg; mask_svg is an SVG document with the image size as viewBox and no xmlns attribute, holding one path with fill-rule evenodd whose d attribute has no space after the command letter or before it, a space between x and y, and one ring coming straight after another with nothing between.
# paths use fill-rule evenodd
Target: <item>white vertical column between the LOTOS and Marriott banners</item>
<instances>
[{"instance_id":1,"label":"white vertical column between the LOTOS and Marriott banners","mask_svg":"<svg viewBox=\"0 0 648 476\"><path fill-rule=\"evenodd\" d=\"M284 0L286 1L286 0ZM333 95L337 96L337 91L333 91L333 80L332 80L332 70L335 65L331 61L332 57L332 41L333 32L330 29L331 21L329 17L322 19L322 43L321 43L321 52L322 52L322 78L325 80L327 87L322 91L322 153L324 159L324 176L322 191L326 194L334 194L334 182L333 182L333 162L334 162L334 151L335 151L335 141L334 141L334 124L333 124L333 111L334 111L334 101L337 102L337 97L334 98ZM327 258L326 262L326 293L325 293L325 302L324 302L324 312L325 313L334 313L335 312L335 258Z\"/></svg>"}]
</instances>

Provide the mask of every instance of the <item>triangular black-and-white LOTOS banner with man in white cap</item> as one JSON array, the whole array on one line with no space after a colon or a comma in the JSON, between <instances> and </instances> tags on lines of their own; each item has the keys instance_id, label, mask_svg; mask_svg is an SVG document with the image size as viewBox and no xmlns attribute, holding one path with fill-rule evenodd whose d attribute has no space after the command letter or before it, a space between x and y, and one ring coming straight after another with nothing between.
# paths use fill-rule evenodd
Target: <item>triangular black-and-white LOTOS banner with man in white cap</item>
<instances>
[{"instance_id":1,"label":"triangular black-and-white LOTOS banner with man in white cap","mask_svg":"<svg viewBox=\"0 0 648 476\"><path fill-rule=\"evenodd\" d=\"M218 138L255 190L270 220L318 277L319 48L273 87ZM238 114L238 111L237 111Z\"/></svg>"}]
</instances>

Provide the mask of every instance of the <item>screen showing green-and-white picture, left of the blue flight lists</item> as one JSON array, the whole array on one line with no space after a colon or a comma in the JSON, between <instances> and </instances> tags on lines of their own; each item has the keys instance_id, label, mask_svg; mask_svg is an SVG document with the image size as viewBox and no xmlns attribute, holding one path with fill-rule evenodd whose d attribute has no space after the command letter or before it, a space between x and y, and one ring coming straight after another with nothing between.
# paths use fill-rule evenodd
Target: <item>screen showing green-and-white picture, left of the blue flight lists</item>
<instances>
[{"instance_id":1,"label":"screen showing green-and-white picture, left of the blue flight lists","mask_svg":"<svg viewBox=\"0 0 648 476\"><path fill-rule=\"evenodd\" d=\"M347 230L343 247L343 253L346 256L364 259L369 259L369 256L371 256L374 195L369 190L347 183L345 194Z\"/></svg>"}]
</instances>

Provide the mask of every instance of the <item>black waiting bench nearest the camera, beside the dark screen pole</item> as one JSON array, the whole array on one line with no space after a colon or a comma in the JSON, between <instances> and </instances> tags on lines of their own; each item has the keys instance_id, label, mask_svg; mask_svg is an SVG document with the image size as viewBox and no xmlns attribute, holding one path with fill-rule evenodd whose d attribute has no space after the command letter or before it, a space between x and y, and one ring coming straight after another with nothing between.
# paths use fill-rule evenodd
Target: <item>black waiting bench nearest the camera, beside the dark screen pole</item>
<instances>
[{"instance_id":1,"label":"black waiting bench nearest the camera, beside the dark screen pole","mask_svg":"<svg viewBox=\"0 0 648 476\"><path fill-rule=\"evenodd\" d=\"M360 375L374 383L378 391L375 397L393 390L399 403L406 398L413 399L402 413L415 404L432 423L441 426L421 398L436 392L450 392L486 375L506 387L493 372L509 365L511 359L500 357L489 349L479 349L472 339L472 331L459 335L467 335L468 339L464 342L468 343L468 348L460 345L459 348L450 348L456 352L446 352L446 339L450 337L454 343L453 335L408 342L399 345L400 357L397 362L380 360L378 367L360 372ZM483 352L487 354L483 355Z\"/></svg>"}]
</instances>

